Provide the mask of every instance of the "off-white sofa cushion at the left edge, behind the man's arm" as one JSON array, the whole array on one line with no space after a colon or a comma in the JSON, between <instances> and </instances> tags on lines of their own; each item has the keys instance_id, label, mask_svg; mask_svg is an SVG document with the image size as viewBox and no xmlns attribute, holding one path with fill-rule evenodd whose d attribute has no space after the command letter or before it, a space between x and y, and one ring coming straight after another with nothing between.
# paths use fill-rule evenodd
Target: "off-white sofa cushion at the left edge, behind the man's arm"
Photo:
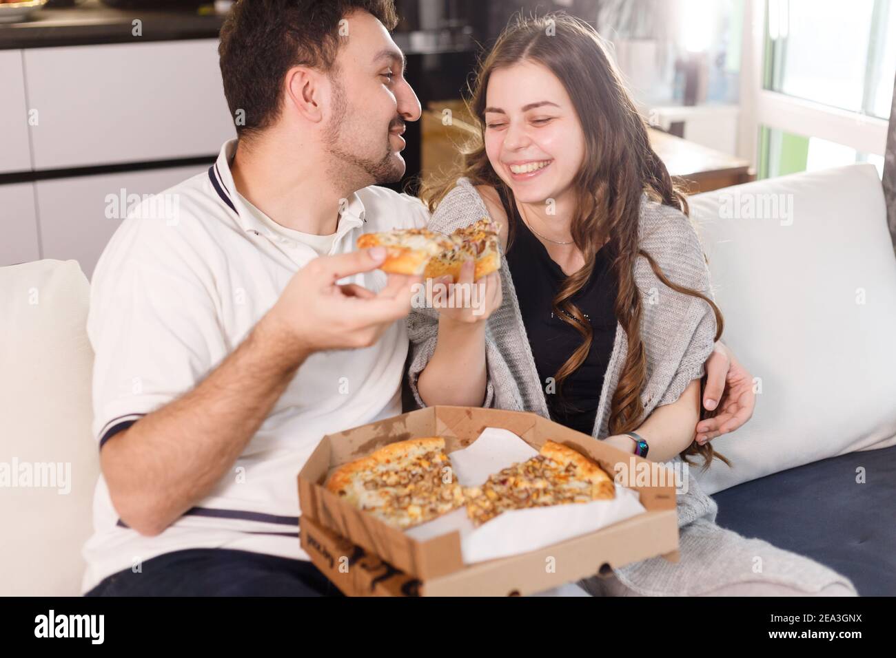
<instances>
[{"instance_id":1,"label":"off-white sofa cushion at the left edge, behind the man's arm","mask_svg":"<svg viewBox=\"0 0 896 658\"><path fill-rule=\"evenodd\" d=\"M99 474L89 300L75 261L0 268L0 595L81 592ZM40 465L56 467L38 482Z\"/></svg>"}]
</instances>

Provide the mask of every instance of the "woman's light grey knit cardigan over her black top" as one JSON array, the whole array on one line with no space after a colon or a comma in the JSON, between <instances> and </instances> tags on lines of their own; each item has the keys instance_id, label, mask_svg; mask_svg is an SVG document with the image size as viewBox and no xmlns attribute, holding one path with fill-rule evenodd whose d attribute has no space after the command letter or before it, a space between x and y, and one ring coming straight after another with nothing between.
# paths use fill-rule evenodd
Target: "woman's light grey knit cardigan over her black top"
<instances>
[{"instance_id":1,"label":"woman's light grey knit cardigan over her black top","mask_svg":"<svg viewBox=\"0 0 896 658\"><path fill-rule=\"evenodd\" d=\"M435 209L429 227L451 233L487 217L488 210L476 188L460 178ZM703 258L700 240L690 220L674 208L642 197L639 221L640 246L653 257L674 283L699 291L715 301L710 273ZM484 406L515 411L531 411L549 417L544 385L538 371L513 278L504 259L501 262L503 302L487 320L487 393ZM634 268L635 283L642 293L642 340L647 358L647 383L642 391L645 416L657 406L675 402L682 391L703 376L704 363L711 355L716 331L715 316L699 297L683 295L665 286L643 257ZM408 317L411 341L409 385L419 406L418 376L429 363L438 333L435 309L414 309ZM608 435L609 406L625 365L628 340L622 325L616 324L616 339L607 365L603 389L592 435ZM676 457L673 461L680 461ZM789 588L790 594L813 594L832 584L846 592L849 580L823 565L781 551L758 539L745 539L715 523L718 508L688 474L687 490L677 497L679 549L678 563L662 558L643 560L614 573L630 594L689 595L722 593L727 585L762 584ZM762 570L757 573L757 559ZM775 590L780 594L780 589Z\"/></svg>"}]
</instances>

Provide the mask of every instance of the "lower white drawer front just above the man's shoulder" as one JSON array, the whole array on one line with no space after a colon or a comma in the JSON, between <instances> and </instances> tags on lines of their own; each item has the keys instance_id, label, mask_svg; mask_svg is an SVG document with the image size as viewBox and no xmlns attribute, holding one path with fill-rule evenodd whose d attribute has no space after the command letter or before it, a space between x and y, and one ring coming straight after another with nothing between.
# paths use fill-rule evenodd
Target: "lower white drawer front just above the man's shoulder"
<instances>
[{"instance_id":1,"label":"lower white drawer front just above the man's shoulder","mask_svg":"<svg viewBox=\"0 0 896 658\"><path fill-rule=\"evenodd\" d=\"M43 257L74 259L87 278L92 277L99 255L122 221L106 217L108 194L120 197L122 190L125 198L130 194L156 194L207 169L208 165L173 167L38 181Z\"/></svg>"}]
</instances>

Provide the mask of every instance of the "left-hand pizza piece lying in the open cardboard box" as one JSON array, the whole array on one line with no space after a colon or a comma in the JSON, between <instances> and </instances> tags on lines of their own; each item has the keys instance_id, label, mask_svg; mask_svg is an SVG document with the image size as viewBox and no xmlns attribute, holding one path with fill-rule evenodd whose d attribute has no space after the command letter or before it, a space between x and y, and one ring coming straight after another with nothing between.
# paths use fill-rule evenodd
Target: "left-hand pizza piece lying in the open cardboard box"
<instances>
[{"instance_id":1,"label":"left-hand pizza piece lying in the open cardboard box","mask_svg":"<svg viewBox=\"0 0 896 658\"><path fill-rule=\"evenodd\" d=\"M337 468L326 488L402 529L463 504L463 490L439 437L390 443Z\"/></svg>"}]
</instances>

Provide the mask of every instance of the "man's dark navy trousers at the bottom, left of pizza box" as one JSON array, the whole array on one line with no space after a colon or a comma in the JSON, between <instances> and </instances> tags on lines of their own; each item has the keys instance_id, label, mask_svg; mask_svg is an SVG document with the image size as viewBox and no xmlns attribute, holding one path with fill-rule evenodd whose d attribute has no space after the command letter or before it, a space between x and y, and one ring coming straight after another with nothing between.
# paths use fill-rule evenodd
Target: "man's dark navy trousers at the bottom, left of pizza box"
<instances>
[{"instance_id":1,"label":"man's dark navy trousers at the bottom, left of pizza box","mask_svg":"<svg viewBox=\"0 0 896 658\"><path fill-rule=\"evenodd\" d=\"M104 578L85 596L339 596L306 560L229 549L189 549Z\"/></svg>"}]
</instances>

